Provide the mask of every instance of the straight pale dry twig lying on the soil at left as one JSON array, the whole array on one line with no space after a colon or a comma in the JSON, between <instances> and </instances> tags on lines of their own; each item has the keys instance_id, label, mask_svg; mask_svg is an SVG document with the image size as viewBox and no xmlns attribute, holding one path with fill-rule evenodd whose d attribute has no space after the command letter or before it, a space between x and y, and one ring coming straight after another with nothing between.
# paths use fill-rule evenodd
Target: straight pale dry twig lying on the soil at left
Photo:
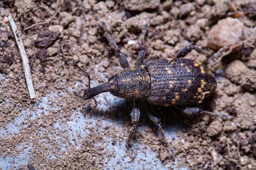
<instances>
[{"instance_id":1,"label":"straight pale dry twig lying on the soil at left","mask_svg":"<svg viewBox=\"0 0 256 170\"><path fill-rule=\"evenodd\" d=\"M27 83L27 86L28 86L28 89L29 89L30 99L35 99L35 91L34 91L34 88L33 88L32 78L31 78L31 74L30 74L29 61L28 61L28 57L26 55L26 51L24 49L24 45L20 41L20 36L18 34L17 27L14 23L14 20L12 19L12 16L9 15L8 19L9 19L9 23L10 23L12 31L13 31L13 35L15 37L15 41L16 41L17 46L18 46L19 51L20 51L20 56L21 56L21 59L22 59L22 64L23 64L25 77L26 77L26 83Z\"/></svg>"}]
</instances>

